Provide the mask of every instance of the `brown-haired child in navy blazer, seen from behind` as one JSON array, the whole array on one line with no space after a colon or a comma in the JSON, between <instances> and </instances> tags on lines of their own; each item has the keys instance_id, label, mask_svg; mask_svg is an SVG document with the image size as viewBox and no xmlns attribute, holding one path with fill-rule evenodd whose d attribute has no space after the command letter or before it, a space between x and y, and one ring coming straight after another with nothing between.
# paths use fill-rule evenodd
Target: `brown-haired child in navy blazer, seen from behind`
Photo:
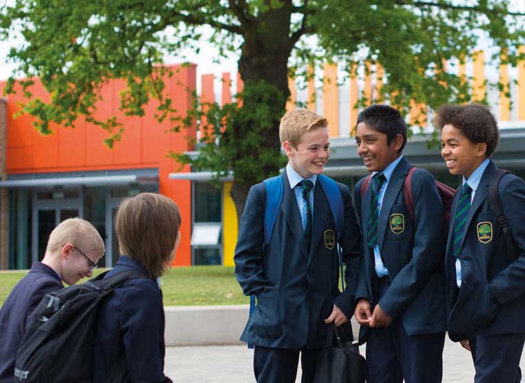
<instances>
[{"instance_id":1,"label":"brown-haired child in navy blazer, seen from behind","mask_svg":"<svg viewBox=\"0 0 525 383\"><path fill-rule=\"evenodd\" d=\"M115 232L122 255L104 279L126 270L144 277L128 279L102 303L95 335L94 383L171 382L164 375L160 276L169 271L180 244L180 223L178 206L164 195L140 193L121 202Z\"/></svg>"}]
</instances>

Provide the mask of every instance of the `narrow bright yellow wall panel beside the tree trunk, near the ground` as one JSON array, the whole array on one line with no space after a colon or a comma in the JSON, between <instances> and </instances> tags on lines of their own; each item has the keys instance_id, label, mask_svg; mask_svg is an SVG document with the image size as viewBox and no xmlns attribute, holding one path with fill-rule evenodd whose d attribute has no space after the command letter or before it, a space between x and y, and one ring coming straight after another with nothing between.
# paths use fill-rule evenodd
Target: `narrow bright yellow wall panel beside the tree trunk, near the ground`
<instances>
[{"instance_id":1,"label":"narrow bright yellow wall panel beside the tree trunk, near the ground","mask_svg":"<svg viewBox=\"0 0 525 383\"><path fill-rule=\"evenodd\" d=\"M222 184L222 264L234 266L233 253L237 244L237 210L231 198L231 181Z\"/></svg>"}]
</instances>

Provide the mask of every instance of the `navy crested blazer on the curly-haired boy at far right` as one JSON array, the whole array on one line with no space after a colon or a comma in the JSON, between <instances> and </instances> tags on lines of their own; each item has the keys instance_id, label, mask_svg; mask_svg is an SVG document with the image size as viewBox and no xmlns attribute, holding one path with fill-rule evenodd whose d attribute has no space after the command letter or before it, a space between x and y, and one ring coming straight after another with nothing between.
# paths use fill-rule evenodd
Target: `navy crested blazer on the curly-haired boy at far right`
<instances>
[{"instance_id":1,"label":"navy crested blazer on the curly-haired boy at far right","mask_svg":"<svg viewBox=\"0 0 525 383\"><path fill-rule=\"evenodd\" d=\"M448 236L446 300L452 340L470 335L525 333L525 182L508 174L498 187L517 249L517 259L513 260L508 257L502 228L489 206L488 186L497 170L490 161L468 212L458 256L461 288L456 283L452 235ZM459 195L452 204L451 217L455 215ZM450 222L451 228L452 225Z\"/></svg>"}]
</instances>

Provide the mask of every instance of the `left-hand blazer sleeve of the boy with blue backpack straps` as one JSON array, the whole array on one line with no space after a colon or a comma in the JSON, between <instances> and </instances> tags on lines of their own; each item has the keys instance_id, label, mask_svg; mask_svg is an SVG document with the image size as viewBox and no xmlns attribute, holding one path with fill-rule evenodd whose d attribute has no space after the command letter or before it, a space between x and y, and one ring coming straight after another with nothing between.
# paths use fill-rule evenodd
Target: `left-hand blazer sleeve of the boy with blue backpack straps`
<instances>
[{"instance_id":1,"label":"left-hand blazer sleeve of the boy with blue backpack straps","mask_svg":"<svg viewBox=\"0 0 525 383\"><path fill-rule=\"evenodd\" d=\"M235 255L235 275L245 295L258 295L271 288L265 278L262 259L265 236L264 184L252 186L239 225Z\"/></svg>"}]
</instances>

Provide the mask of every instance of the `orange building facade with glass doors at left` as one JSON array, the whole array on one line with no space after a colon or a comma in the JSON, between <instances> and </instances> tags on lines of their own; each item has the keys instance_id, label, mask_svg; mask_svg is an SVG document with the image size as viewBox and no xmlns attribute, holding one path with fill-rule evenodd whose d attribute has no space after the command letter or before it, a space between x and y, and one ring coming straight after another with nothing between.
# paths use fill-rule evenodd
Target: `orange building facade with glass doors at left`
<instances>
[{"instance_id":1,"label":"orange building facade with glass doors at left","mask_svg":"<svg viewBox=\"0 0 525 383\"><path fill-rule=\"evenodd\" d=\"M173 66L173 77L166 77L166 88L181 115L191 106L195 71L194 65ZM2 228L1 268L29 268L44 256L50 230L76 216L92 222L106 242L106 256L99 266L113 266L118 254L115 211L123 198L142 191L161 193L178 204L182 242L173 264L191 264L191 181L169 179L180 166L166 155L169 150L193 150L195 128L168 132L169 122L154 118L154 101L146 106L144 117L122 115L119 93L124 86L122 81L108 82L95 115L97 119L115 115L126 129L112 149L103 144L108 133L84 119L76 121L75 128L55 127L53 135L43 136L32 128L32 117L14 117L24 101L21 92L6 97L1 186L8 190L8 201L2 206L7 225ZM46 97L38 81L32 93Z\"/></svg>"}]
</instances>

